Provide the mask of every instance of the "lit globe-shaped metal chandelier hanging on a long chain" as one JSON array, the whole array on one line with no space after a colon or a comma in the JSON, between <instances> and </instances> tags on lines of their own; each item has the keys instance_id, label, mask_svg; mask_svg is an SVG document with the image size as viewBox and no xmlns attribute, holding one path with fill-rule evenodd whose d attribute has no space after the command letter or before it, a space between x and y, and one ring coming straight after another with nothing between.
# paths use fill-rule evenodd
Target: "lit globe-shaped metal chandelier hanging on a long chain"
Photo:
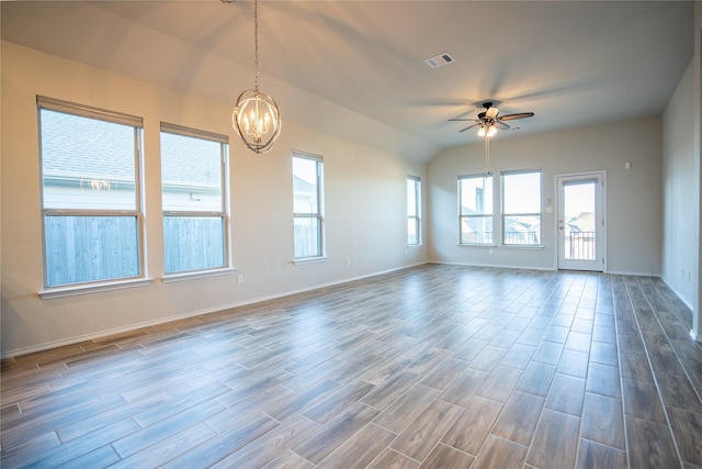
<instances>
[{"instance_id":1,"label":"lit globe-shaped metal chandelier hanging on a long chain","mask_svg":"<svg viewBox=\"0 0 702 469\"><path fill-rule=\"evenodd\" d=\"M253 89L241 91L231 113L231 124L241 143L252 152L265 153L281 133L281 114L273 98L259 90L259 4L253 1Z\"/></svg>"}]
</instances>

